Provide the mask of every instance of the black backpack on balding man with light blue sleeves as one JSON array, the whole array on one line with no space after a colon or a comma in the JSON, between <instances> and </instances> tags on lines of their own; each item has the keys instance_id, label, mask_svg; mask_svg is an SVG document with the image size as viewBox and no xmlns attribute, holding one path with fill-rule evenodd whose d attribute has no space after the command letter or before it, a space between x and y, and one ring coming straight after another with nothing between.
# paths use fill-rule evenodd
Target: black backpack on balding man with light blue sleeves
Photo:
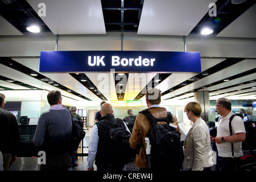
<instances>
[{"instance_id":1,"label":"black backpack on balding man with light blue sleeves","mask_svg":"<svg viewBox=\"0 0 256 182\"><path fill-rule=\"evenodd\" d=\"M131 134L126 130L122 119L116 118L115 121L113 123L104 120L96 125L101 125L109 130L109 164L123 167L135 158L136 151L130 147Z\"/></svg>"}]
</instances>

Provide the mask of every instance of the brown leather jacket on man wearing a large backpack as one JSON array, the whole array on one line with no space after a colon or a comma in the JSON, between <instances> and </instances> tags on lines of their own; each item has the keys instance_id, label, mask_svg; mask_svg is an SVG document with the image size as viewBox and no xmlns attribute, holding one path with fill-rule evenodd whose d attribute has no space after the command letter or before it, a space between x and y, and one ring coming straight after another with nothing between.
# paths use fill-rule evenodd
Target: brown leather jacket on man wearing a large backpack
<instances>
[{"instance_id":1,"label":"brown leather jacket on man wearing a large backpack","mask_svg":"<svg viewBox=\"0 0 256 182\"><path fill-rule=\"evenodd\" d=\"M167 117L167 111L164 107L150 107L148 109L150 113L155 118L166 118ZM172 118L174 118L174 124L177 125L177 118L175 115L172 114ZM158 125L166 125L166 122L158 122ZM147 117L141 113L137 115L137 118L134 122L133 131L131 133L130 138L130 146L133 149L137 149L137 155L136 155L136 163L135 166L139 168L147 168L147 161L146 161L146 155L145 155L145 137L148 137L150 134L151 125L148 121ZM179 126L177 125L177 131L179 133L179 137L181 135ZM142 147L143 142L143 147Z\"/></svg>"}]
</instances>

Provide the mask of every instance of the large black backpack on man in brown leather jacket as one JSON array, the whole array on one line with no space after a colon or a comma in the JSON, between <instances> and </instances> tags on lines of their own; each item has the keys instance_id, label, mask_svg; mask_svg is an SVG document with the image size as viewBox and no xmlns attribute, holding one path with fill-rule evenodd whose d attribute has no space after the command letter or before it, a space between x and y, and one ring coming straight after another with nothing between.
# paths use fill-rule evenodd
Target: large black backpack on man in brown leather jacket
<instances>
[{"instance_id":1,"label":"large black backpack on man in brown leather jacket","mask_svg":"<svg viewBox=\"0 0 256 182\"><path fill-rule=\"evenodd\" d=\"M148 109L139 113L144 114L152 126L148 136L151 148L150 155L146 155L147 168L154 171L179 171L182 169L183 147L176 128L170 126L170 122L174 122L172 114L167 112L166 118L155 118ZM157 122L161 121L166 122L167 125L157 125Z\"/></svg>"}]
</instances>

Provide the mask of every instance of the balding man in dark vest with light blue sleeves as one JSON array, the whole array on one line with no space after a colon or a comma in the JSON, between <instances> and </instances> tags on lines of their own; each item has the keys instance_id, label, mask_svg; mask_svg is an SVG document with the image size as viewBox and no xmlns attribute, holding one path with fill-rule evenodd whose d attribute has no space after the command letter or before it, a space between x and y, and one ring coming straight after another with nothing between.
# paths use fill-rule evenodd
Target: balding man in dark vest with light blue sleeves
<instances>
[{"instance_id":1,"label":"balding man in dark vest with light blue sleeves","mask_svg":"<svg viewBox=\"0 0 256 182\"><path fill-rule=\"evenodd\" d=\"M121 166L110 166L108 163L108 144L109 144L109 130L104 126L101 126L100 122L110 121L117 123L117 119L112 114L112 105L105 103L101 106L100 114L101 118L93 126L92 133L90 134L90 143L88 151L88 171L93 171L93 163L97 166L97 171L121 171ZM126 130L129 131L128 127L123 122ZM130 131L129 131L130 132Z\"/></svg>"}]
</instances>

